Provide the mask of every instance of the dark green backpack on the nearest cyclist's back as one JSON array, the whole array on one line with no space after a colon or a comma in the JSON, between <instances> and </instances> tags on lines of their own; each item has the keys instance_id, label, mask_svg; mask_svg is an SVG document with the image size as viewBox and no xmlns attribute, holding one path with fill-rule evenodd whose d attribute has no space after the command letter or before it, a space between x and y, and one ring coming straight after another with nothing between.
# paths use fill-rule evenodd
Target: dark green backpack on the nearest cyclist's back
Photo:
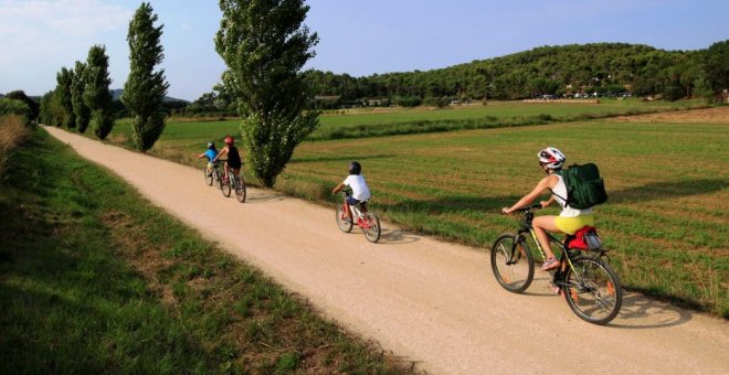
<instances>
[{"instance_id":1,"label":"dark green backpack on the nearest cyclist's back","mask_svg":"<svg viewBox=\"0 0 729 375\"><path fill-rule=\"evenodd\" d=\"M608 201L605 183L600 178L598 165L593 163L572 164L567 170L562 170L560 174L567 185L567 197L554 195L564 200L570 207L585 210Z\"/></svg>"}]
</instances>

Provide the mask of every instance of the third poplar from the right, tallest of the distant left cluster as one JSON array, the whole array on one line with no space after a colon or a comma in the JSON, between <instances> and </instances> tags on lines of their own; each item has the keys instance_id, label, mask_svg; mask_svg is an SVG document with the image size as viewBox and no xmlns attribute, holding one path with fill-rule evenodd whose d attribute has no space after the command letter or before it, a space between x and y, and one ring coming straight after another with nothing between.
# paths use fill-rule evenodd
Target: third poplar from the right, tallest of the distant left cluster
<instances>
[{"instance_id":1,"label":"third poplar from the right, tallest of the distant left cluster","mask_svg":"<svg viewBox=\"0 0 729 375\"><path fill-rule=\"evenodd\" d=\"M112 93L109 93L112 78L109 78L108 68L109 57L106 55L106 47L92 46L86 58L87 81L84 103L91 108L91 127L99 139L106 139L114 128L114 117L110 110Z\"/></svg>"}]
</instances>

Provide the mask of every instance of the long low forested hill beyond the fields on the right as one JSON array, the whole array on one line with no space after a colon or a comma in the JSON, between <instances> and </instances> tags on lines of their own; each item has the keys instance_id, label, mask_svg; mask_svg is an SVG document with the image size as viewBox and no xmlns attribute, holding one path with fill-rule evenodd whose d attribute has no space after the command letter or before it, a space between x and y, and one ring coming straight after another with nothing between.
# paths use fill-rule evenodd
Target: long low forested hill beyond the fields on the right
<instances>
[{"instance_id":1,"label":"long low forested hill beyond the fields on the right","mask_svg":"<svg viewBox=\"0 0 729 375\"><path fill-rule=\"evenodd\" d=\"M541 46L427 72L352 77L310 71L306 77L324 106L381 98L408 106L595 93L662 95L674 100L714 93L716 73L709 72L708 57L726 56L727 44L688 52L625 43Z\"/></svg>"}]
</instances>

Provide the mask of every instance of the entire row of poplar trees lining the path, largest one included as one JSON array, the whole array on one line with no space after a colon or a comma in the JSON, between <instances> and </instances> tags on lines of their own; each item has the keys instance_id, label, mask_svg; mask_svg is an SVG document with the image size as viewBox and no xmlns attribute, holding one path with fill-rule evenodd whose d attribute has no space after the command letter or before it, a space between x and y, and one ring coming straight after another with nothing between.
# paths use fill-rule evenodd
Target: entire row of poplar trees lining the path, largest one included
<instances>
[{"instance_id":1,"label":"entire row of poplar trees lining the path, largest one included","mask_svg":"<svg viewBox=\"0 0 729 375\"><path fill-rule=\"evenodd\" d=\"M273 186L296 146L319 124L302 73L315 56L319 38L303 23L309 10L303 0L220 0L219 4L222 20L215 51L228 65L222 82L242 119L247 165L264 185ZM127 36L131 69L122 101L131 113L133 141L141 151L151 148L165 129L160 108L169 85L163 69L155 72L163 57L162 26L156 21L150 4L142 3ZM108 57L99 45L91 49L86 63L62 68L47 99L61 109L52 124L84 132L91 121L94 133L106 138L114 126L107 69Z\"/></svg>"}]
</instances>

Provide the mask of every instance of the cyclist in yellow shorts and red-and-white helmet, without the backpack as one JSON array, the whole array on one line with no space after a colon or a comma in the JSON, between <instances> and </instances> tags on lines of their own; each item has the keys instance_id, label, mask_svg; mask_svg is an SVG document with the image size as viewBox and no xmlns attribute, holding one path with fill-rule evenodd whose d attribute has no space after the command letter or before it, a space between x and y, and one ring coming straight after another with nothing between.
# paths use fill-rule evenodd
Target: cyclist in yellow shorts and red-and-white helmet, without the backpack
<instances>
[{"instance_id":1,"label":"cyclist in yellow shorts and red-and-white helmet, without the backpack","mask_svg":"<svg viewBox=\"0 0 729 375\"><path fill-rule=\"evenodd\" d=\"M535 217L532 222L539 245L541 245L547 254L547 260L545 260L541 269L550 270L559 267L559 260L557 260L554 253L549 247L547 231L572 235L585 225L594 226L595 224L594 217L592 216L592 208L572 208L563 199L567 197L567 185L564 184L564 179L562 179L562 165L564 165L564 160L567 159L564 154L553 147L548 147L539 151L538 157L539 165L545 173L547 173L547 176L541 179L530 193L521 197L513 206L501 208L501 213L510 214L518 208L526 207L547 190L551 192L551 196L548 201L540 202L541 206L547 207L552 202L557 201L562 206L562 212L560 212L559 216L538 216Z\"/></svg>"}]
</instances>

